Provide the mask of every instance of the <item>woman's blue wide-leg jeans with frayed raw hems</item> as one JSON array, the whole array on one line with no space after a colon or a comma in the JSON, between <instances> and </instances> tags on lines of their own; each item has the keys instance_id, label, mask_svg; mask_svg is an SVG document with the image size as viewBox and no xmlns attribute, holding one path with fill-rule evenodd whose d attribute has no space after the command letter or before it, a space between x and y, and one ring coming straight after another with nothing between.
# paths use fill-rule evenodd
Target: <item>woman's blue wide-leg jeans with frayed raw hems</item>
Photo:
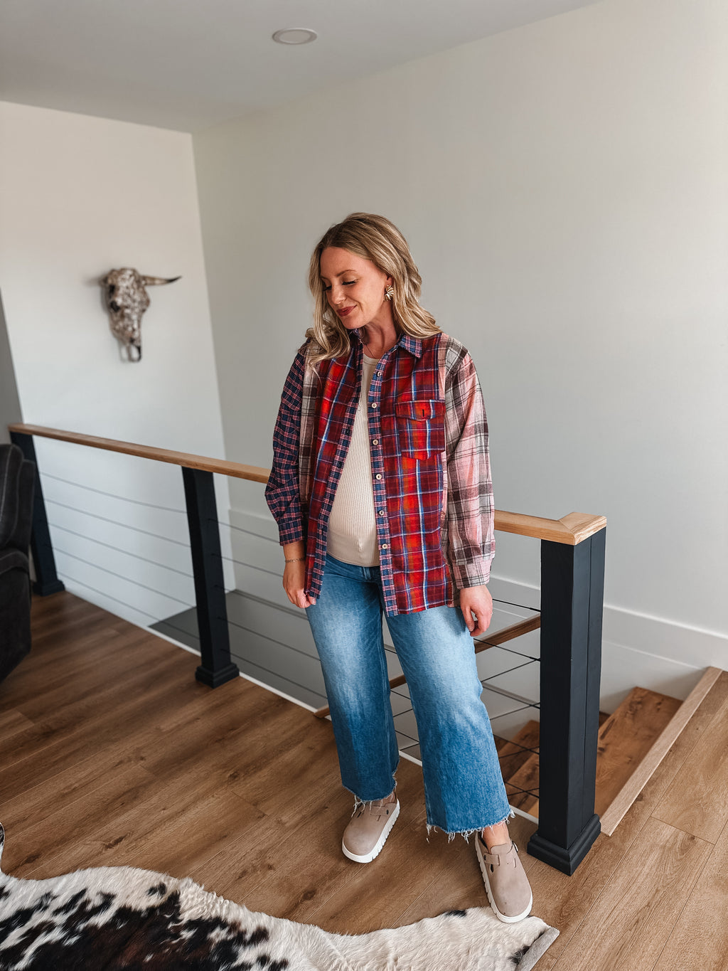
<instances>
[{"instance_id":1,"label":"woman's blue wide-leg jeans with frayed raw hems","mask_svg":"<svg viewBox=\"0 0 728 971\"><path fill-rule=\"evenodd\" d=\"M383 799L399 763L381 636L379 567L326 556L306 613L334 725L342 782L362 802ZM427 822L470 833L511 810L485 707L473 639L458 608L386 619L407 678L422 753Z\"/></svg>"}]
</instances>

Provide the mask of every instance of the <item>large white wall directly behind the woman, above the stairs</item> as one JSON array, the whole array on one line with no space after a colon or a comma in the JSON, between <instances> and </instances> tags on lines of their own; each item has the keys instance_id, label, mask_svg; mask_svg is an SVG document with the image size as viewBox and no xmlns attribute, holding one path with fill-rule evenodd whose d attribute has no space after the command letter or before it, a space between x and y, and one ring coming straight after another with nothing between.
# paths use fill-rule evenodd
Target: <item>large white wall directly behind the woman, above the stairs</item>
<instances>
[{"instance_id":1,"label":"large white wall directly behind the woman, above the stairs","mask_svg":"<svg viewBox=\"0 0 728 971\"><path fill-rule=\"evenodd\" d=\"M270 463L318 235L392 218L479 366L498 507L609 519L612 706L726 666L726 44L717 0L605 0L195 137L228 457ZM527 546L495 561L523 603Z\"/></svg>"}]
</instances>

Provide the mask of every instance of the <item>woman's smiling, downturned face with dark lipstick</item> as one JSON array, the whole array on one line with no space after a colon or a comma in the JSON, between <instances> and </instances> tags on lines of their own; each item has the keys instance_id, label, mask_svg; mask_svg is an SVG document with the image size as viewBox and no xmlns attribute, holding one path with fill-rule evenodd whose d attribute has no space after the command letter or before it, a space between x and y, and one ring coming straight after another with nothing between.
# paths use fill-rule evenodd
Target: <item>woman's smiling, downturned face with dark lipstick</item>
<instances>
[{"instance_id":1,"label":"woman's smiling, downturned face with dark lipstick","mask_svg":"<svg viewBox=\"0 0 728 971\"><path fill-rule=\"evenodd\" d=\"M371 259L327 247L321 253L319 266L326 298L347 330L368 323L394 323L392 305L384 299L384 290L392 278Z\"/></svg>"}]
</instances>

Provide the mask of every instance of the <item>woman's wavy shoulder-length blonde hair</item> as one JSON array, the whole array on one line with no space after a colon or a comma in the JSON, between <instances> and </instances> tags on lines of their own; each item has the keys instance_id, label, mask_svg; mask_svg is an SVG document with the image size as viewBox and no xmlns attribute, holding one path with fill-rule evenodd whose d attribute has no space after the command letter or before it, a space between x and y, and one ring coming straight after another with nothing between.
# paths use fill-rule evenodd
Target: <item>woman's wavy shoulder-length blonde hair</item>
<instances>
[{"instance_id":1,"label":"woman's wavy shoulder-length blonde hair","mask_svg":"<svg viewBox=\"0 0 728 971\"><path fill-rule=\"evenodd\" d=\"M392 312L396 326L411 337L433 337L440 327L432 314L419 306L422 278L414 265L407 240L397 227L383 216L351 213L343 222L328 229L315 246L309 267L309 288L314 295L314 326L306 336L318 349L312 349L309 364L341 357L350 350L349 332L326 299L321 281L321 253L337 247L371 260L392 278L394 296Z\"/></svg>"}]
</instances>

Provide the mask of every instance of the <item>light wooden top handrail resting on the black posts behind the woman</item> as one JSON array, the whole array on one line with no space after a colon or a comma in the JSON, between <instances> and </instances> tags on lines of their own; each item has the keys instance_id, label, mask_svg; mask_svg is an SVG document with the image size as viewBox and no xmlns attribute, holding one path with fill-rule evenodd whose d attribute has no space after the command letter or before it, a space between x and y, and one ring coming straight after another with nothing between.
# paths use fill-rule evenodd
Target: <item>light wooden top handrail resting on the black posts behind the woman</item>
<instances>
[{"instance_id":1,"label":"light wooden top handrail resting on the black posts behind the woman","mask_svg":"<svg viewBox=\"0 0 728 971\"><path fill-rule=\"evenodd\" d=\"M190 469L217 472L223 476L232 476L234 479L248 479L250 482L263 485L268 482L270 474L270 469L259 465L244 465L242 462L229 462L224 458L209 458L189 452L171 452L168 449L135 445L133 442L119 442L114 438L97 438L95 435L82 435L79 432L46 428L43 425L18 423L8 427L21 435L38 435L40 438L54 438L60 442L72 442L91 449L138 455L141 458L170 462L172 465L182 465ZM550 540L552 543L564 543L567 546L578 546L589 536L604 529L606 525L607 519L604 516L589 516L586 513L569 513L561 519L543 519L539 516L526 516L523 513L506 513L499 509L495 511L495 528L500 532Z\"/></svg>"}]
</instances>

